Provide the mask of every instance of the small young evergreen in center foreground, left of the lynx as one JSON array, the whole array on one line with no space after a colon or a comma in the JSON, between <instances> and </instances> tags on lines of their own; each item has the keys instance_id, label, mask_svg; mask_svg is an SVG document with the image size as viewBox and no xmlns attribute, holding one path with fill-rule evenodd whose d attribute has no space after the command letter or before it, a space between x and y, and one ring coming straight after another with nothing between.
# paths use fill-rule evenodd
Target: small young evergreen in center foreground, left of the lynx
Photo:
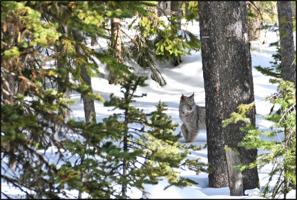
<instances>
[{"instance_id":1,"label":"small young evergreen in center foreground, left of the lynx","mask_svg":"<svg viewBox=\"0 0 297 200\"><path fill-rule=\"evenodd\" d=\"M172 132L178 123L173 123L171 117L164 113L164 102L159 102L157 110L151 114L131 106L135 98L146 96L135 94L137 86L146 86L146 79L135 75L125 78L121 83L124 98L119 99L111 94L111 99L104 102L104 106L124 113L113 114L100 123L86 123L83 126L82 135L90 138L91 147L79 141L66 141L70 153L79 156L75 166L68 166L82 172L83 186L76 188L80 192L87 192L92 198L119 198L126 197L128 186L138 188L145 197L143 184L156 184L161 177L169 179L169 186L183 188L195 183L180 177L175 169L188 167L197 174L206 171L203 168L206 165L198 163L198 159L184 161L189 154L188 149L201 150L202 146L184 148L177 142L180 134L174 135ZM147 116L150 116L151 121L148 121ZM68 123L75 126L77 122L72 120ZM80 162L82 160L84 163ZM63 165L64 168L66 165ZM120 190L115 190L116 186Z\"/></svg>"}]
</instances>

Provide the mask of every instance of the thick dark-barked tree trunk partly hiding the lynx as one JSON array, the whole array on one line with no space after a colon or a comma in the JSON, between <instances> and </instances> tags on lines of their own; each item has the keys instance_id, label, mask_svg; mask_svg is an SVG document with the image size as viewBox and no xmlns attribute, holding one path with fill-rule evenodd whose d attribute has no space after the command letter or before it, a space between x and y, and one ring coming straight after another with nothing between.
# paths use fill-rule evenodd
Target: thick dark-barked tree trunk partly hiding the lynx
<instances>
[{"instance_id":1,"label":"thick dark-barked tree trunk partly hiding the lynx","mask_svg":"<svg viewBox=\"0 0 297 200\"><path fill-rule=\"evenodd\" d=\"M222 120L236 112L240 103L251 103L253 77L249 52L247 7L244 1L198 1L202 69L204 76L208 159L212 172L209 187L228 187L227 161L224 146L236 149L240 161L249 164L257 150L238 148L245 132L237 123L222 128ZM248 116L255 126L255 109ZM244 191L258 188L258 170L242 171Z\"/></svg>"}]
</instances>

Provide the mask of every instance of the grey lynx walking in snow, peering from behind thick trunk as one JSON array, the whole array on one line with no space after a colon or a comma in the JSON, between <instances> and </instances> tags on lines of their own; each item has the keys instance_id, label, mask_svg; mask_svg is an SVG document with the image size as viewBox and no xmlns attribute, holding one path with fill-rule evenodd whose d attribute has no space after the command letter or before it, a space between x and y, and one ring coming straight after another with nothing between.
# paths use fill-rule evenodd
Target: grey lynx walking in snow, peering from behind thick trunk
<instances>
[{"instance_id":1,"label":"grey lynx walking in snow, peering from behind thick trunk","mask_svg":"<svg viewBox=\"0 0 297 200\"><path fill-rule=\"evenodd\" d=\"M194 101L194 94L186 97L182 94L180 98L180 119L182 122L182 134L186 143L193 142L200 129L206 129L205 107L197 106Z\"/></svg>"}]
</instances>

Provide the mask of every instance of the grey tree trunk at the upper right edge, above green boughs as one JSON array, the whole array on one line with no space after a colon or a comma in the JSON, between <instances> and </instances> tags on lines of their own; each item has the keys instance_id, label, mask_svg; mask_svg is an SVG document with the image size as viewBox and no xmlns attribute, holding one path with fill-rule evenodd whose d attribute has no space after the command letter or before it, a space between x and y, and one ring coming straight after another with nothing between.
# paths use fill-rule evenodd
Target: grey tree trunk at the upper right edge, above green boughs
<instances>
[{"instance_id":1,"label":"grey tree trunk at the upper right edge, above green boughs","mask_svg":"<svg viewBox=\"0 0 297 200\"><path fill-rule=\"evenodd\" d=\"M296 86L296 66L293 23L290 1L278 1L278 23L280 29L280 54L282 57L282 79Z\"/></svg>"}]
</instances>

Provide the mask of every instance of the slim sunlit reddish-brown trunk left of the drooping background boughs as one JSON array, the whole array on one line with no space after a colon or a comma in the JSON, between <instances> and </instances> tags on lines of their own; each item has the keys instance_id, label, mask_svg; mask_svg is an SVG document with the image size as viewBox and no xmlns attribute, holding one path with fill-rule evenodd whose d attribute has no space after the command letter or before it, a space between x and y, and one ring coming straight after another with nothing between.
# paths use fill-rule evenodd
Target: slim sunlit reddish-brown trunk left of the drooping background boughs
<instances>
[{"instance_id":1,"label":"slim sunlit reddish-brown trunk left of the drooping background boughs","mask_svg":"<svg viewBox=\"0 0 297 200\"><path fill-rule=\"evenodd\" d=\"M111 35L113 39L111 40L111 55L117 59L117 61L122 61L122 34L121 34L121 20L117 18L111 19ZM115 83L119 77L114 74L115 72L111 70L109 72L109 84Z\"/></svg>"}]
</instances>

